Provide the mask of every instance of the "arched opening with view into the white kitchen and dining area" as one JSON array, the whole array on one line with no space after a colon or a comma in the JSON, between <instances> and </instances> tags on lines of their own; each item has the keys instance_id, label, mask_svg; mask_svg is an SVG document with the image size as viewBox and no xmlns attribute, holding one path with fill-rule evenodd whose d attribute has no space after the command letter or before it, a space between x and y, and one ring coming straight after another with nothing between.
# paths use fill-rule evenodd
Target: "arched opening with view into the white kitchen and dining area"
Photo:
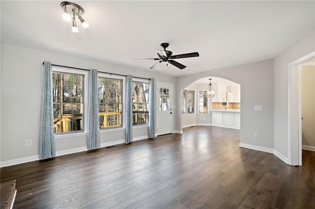
<instances>
[{"instance_id":1,"label":"arched opening with view into the white kitchen and dining area","mask_svg":"<svg viewBox=\"0 0 315 209\"><path fill-rule=\"evenodd\" d=\"M216 92L213 98L206 95L209 79ZM181 93L182 128L219 126L240 129L240 84L224 78L205 77L190 83Z\"/></svg>"}]
</instances>

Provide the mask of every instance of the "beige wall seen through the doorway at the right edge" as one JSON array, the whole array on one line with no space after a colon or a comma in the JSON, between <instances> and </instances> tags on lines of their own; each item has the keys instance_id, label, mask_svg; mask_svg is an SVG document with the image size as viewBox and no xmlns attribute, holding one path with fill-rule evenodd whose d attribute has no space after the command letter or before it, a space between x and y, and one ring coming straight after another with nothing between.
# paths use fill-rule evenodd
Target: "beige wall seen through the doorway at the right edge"
<instances>
[{"instance_id":1,"label":"beige wall seen through the doorway at the right edge","mask_svg":"<svg viewBox=\"0 0 315 209\"><path fill-rule=\"evenodd\" d=\"M302 145L315 148L315 66L302 67Z\"/></svg>"}]
</instances>

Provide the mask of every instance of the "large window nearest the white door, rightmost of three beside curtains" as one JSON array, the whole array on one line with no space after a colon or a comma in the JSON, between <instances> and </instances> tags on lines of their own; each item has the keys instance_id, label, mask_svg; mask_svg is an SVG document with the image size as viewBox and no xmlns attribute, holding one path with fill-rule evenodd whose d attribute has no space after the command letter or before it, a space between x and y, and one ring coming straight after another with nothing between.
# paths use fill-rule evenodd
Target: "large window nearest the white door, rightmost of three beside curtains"
<instances>
[{"instance_id":1,"label":"large window nearest the white door, rightmost of three beside curtains","mask_svg":"<svg viewBox=\"0 0 315 209\"><path fill-rule=\"evenodd\" d=\"M132 124L149 123L149 83L132 81Z\"/></svg>"}]
</instances>

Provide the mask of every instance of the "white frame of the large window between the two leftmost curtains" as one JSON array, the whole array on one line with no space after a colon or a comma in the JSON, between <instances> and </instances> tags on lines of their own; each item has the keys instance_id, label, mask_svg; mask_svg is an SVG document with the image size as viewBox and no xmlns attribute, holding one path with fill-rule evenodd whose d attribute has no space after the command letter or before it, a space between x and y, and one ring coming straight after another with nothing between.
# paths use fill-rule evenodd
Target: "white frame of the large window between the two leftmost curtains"
<instances>
[{"instance_id":1,"label":"white frame of the large window between the two leftmost curtains","mask_svg":"<svg viewBox=\"0 0 315 209\"><path fill-rule=\"evenodd\" d=\"M89 98L89 72L88 71L82 71L77 69L70 69L70 68L61 68L61 67L55 67L52 66L52 73L61 73L61 74L78 74L82 75L82 85L83 85L83 93L82 93L82 104L83 104L83 113L82 113L82 130L79 131L68 131L68 132L60 132L60 133L54 133L55 138L64 138L65 135L82 135L83 133L87 133L88 128L88 98ZM53 110L54 111L54 110Z\"/></svg>"}]
</instances>

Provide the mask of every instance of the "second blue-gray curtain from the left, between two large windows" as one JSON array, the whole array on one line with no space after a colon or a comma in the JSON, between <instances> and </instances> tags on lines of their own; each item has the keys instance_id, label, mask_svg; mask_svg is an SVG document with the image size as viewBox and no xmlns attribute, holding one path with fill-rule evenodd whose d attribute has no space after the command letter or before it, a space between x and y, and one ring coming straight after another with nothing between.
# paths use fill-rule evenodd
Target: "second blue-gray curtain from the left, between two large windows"
<instances>
[{"instance_id":1,"label":"second blue-gray curtain from the left, between two large windows","mask_svg":"<svg viewBox=\"0 0 315 209\"><path fill-rule=\"evenodd\" d=\"M88 150L100 147L98 117L98 77L97 70L90 71L88 109Z\"/></svg>"}]
</instances>

